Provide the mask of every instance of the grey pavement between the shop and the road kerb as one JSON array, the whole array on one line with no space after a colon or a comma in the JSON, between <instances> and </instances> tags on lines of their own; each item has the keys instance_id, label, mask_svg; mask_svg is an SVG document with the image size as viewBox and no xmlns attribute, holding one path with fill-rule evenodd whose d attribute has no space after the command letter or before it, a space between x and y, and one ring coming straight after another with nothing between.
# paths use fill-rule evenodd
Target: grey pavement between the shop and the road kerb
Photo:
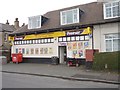
<instances>
[{"instance_id":1,"label":"grey pavement between the shop and the road kerb","mask_svg":"<svg viewBox=\"0 0 120 90\"><path fill-rule=\"evenodd\" d=\"M46 76L77 81L120 84L118 73L87 70L85 66L68 67L65 64L8 63L2 65L2 72Z\"/></svg>"}]
</instances>

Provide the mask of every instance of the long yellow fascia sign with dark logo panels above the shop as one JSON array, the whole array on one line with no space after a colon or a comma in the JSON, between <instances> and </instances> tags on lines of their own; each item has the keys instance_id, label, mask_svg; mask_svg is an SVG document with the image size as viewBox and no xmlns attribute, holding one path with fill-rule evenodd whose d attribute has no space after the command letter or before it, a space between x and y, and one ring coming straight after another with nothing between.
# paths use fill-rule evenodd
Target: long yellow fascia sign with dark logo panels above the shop
<instances>
[{"instance_id":1,"label":"long yellow fascia sign with dark logo panels above the shop","mask_svg":"<svg viewBox=\"0 0 120 90\"><path fill-rule=\"evenodd\" d=\"M62 36L72 36L72 35L85 35L85 34L92 34L92 30L90 27L80 29L80 30L69 30L69 31L58 31L58 32L49 32L43 34L32 34L32 35L25 35L25 36L9 36L9 41L14 40L30 40L30 39L39 39L39 38L56 38Z\"/></svg>"}]
</instances>

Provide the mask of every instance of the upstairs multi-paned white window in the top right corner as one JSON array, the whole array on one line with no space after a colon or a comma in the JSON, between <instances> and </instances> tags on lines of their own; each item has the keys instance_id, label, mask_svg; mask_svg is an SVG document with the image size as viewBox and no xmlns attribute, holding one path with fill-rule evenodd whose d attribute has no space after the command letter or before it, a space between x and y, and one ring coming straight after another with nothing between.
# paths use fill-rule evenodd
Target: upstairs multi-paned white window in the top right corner
<instances>
[{"instance_id":1,"label":"upstairs multi-paned white window in the top right corner","mask_svg":"<svg viewBox=\"0 0 120 90\"><path fill-rule=\"evenodd\" d=\"M104 4L104 19L117 18L120 16L120 1Z\"/></svg>"}]
</instances>

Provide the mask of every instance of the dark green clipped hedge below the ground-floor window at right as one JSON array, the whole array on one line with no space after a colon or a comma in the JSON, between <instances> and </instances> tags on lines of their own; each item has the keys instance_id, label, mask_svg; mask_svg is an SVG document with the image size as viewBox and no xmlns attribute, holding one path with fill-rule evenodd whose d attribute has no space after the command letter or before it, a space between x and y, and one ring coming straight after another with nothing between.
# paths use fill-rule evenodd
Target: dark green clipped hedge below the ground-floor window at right
<instances>
[{"instance_id":1,"label":"dark green clipped hedge below the ground-floor window at right","mask_svg":"<svg viewBox=\"0 0 120 90\"><path fill-rule=\"evenodd\" d=\"M120 70L120 51L95 53L92 68L94 70Z\"/></svg>"}]
</instances>

